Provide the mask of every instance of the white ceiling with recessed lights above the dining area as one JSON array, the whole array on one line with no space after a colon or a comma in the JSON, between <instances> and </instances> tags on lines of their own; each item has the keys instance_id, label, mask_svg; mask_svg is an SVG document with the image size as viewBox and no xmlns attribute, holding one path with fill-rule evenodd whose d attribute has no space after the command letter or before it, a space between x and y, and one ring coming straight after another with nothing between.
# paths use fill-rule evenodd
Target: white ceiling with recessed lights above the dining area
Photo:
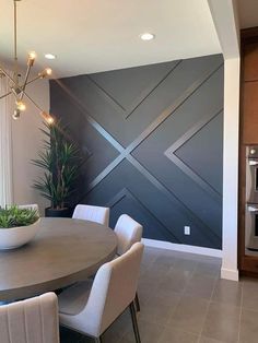
<instances>
[{"instance_id":1,"label":"white ceiling with recessed lights above the dining area","mask_svg":"<svg viewBox=\"0 0 258 343\"><path fill-rule=\"evenodd\" d=\"M0 60L10 62L12 0L0 0ZM142 42L144 32L155 39ZM60 78L218 54L221 47L207 0L22 0L19 61L31 50L37 67L49 66ZM47 61L46 52L57 59Z\"/></svg>"}]
</instances>

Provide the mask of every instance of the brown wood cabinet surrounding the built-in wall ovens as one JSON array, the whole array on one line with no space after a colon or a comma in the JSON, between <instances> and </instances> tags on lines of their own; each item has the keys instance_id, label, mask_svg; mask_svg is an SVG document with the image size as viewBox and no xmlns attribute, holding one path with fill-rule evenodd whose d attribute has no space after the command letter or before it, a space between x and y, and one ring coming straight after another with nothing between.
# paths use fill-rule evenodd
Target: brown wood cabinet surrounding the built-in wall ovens
<instances>
[{"instance_id":1,"label":"brown wood cabinet surrounding the built-in wall ovens","mask_svg":"<svg viewBox=\"0 0 258 343\"><path fill-rule=\"evenodd\" d=\"M246 147L258 145L258 27L242 31L239 190L238 190L238 269L258 276L258 251L247 253Z\"/></svg>"}]
</instances>

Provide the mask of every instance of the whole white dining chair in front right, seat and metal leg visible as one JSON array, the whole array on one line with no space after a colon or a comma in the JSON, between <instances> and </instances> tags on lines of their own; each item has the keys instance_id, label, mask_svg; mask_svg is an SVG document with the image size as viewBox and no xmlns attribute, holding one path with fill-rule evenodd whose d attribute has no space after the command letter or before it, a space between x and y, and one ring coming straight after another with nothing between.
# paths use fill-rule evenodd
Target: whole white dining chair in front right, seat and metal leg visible
<instances>
[{"instance_id":1,"label":"whole white dining chair in front right, seat and metal leg visible","mask_svg":"<svg viewBox=\"0 0 258 343\"><path fill-rule=\"evenodd\" d=\"M142 252L143 245L137 243L122 256L103 264L93 283L87 280L63 291L58 297L60 323L99 343L102 334L129 307L136 342L140 343L133 299Z\"/></svg>"}]
</instances>

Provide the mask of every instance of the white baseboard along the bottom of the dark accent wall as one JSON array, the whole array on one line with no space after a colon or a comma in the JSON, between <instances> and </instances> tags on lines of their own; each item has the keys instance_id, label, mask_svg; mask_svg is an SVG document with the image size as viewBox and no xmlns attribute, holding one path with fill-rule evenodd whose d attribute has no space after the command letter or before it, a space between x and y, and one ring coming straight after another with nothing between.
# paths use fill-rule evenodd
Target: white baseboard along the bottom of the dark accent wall
<instances>
[{"instance_id":1,"label":"white baseboard along the bottom of the dark accent wall","mask_svg":"<svg viewBox=\"0 0 258 343\"><path fill-rule=\"evenodd\" d=\"M219 249L210 249L203 247L196 247L196 246L187 246L187 245L178 245L169 241L164 240L155 240L149 238L142 238L142 243L148 247L160 248L160 249L167 249L167 250L175 250L181 252L190 252L197 255L204 255L204 256L212 256L222 258L222 250Z\"/></svg>"}]
</instances>

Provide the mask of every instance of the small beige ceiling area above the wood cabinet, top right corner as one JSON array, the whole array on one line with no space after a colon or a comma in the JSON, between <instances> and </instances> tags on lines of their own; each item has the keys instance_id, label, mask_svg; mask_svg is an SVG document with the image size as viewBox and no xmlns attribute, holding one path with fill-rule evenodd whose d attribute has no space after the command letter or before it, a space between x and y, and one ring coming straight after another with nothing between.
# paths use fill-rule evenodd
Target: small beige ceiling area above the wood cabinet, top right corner
<instances>
[{"instance_id":1,"label":"small beige ceiling area above the wood cabinet, top right corner","mask_svg":"<svg viewBox=\"0 0 258 343\"><path fill-rule=\"evenodd\" d=\"M238 0L241 28L258 26L258 1Z\"/></svg>"}]
</instances>

